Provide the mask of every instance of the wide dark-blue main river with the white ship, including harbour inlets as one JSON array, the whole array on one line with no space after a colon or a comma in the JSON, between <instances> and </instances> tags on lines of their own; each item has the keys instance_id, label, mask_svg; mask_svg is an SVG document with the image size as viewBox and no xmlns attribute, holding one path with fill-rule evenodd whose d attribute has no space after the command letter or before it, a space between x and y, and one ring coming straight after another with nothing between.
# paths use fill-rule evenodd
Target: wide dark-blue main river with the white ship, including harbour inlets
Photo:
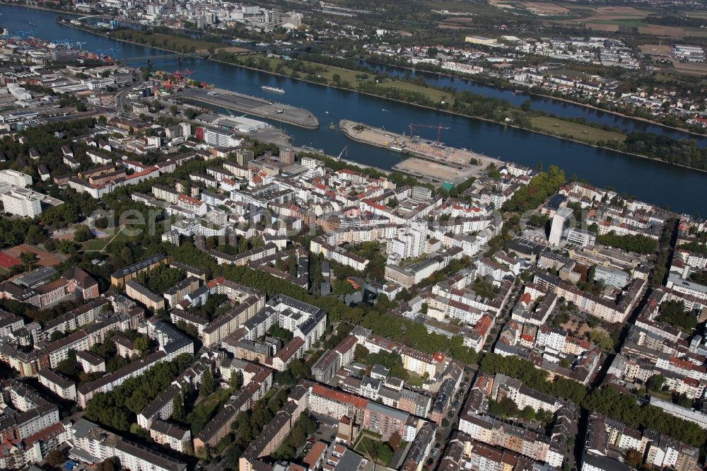
<instances>
[{"instance_id":1,"label":"wide dark-blue main river with the white ship, including harbour inlets","mask_svg":"<svg viewBox=\"0 0 707 471\"><path fill-rule=\"evenodd\" d=\"M57 13L51 11L0 5L0 13L2 13L0 26L14 32L33 29L35 34L43 39L63 40L68 38L72 42L85 42L84 47L94 51L99 48L107 50L112 47L118 51L118 57L161 54L158 50L149 47L110 40L59 25L55 21ZM28 25L30 21L38 26ZM228 64L189 59L181 63L156 61L155 67L165 71L189 68L193 71L192 79L214 83L218 87L241 93L279 100L293 106L305 107L320 120L322 124L320 129L308 130L279 123L273 124L282 127L290 134L293 137L293 144L298 146L311 144L332 155L339 155L344 147L348 146L348 156L351 161L390 169L392 165L400 161L400 156L392 151L358 144L347 139L339 131L330 131L328 127L330 121L338 123L341 119L348 119L401 133L407 132L410 123L440 123L445 127L450 127L450 130L442 133L442 140L450 146L466 147L479 153L501 158L504 161L515 161L533 168L539 161L542 161L545 168L548 165L558 165L565 170L567 175L576 174L579 178L587 179L592 185L613 187L619 192L659 206L668 204L671 209L681 213L707 216L707 198L705 197L707 173L696 170L646 158L626 156L618 152L597 149L522 129L514 129L502 124L426 110L405 103L323 87L314 83L305 83ZM455 80L455 82L457 81L459 79ZM459 82L461 83L461 81ZM261 89L263 85L284 88L286 93L280 95L279 93L265 92ZM510 93L498 88L486 88L491 88L496 93ZM525 100L526 97L520 98ZM556 100L551 101L561 103ZM576 105L570 106L573 110L588 110ZM590 111L594 112L588 110L588 112ZM561 113L556 114L561 115ZM603 113L603 115L607 114ZM631 121L636 122L635 120ZM420 134L432 138L435 136L436 130L421 130Z\"/></svg>"}]
</instances>

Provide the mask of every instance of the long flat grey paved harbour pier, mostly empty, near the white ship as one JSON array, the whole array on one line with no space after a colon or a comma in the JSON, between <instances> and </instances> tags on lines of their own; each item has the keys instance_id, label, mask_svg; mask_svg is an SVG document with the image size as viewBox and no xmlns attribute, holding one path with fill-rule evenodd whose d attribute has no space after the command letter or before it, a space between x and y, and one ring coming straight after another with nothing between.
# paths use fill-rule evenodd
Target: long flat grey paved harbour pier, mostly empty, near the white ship
<instances>
[{"instance_id":1,"label":"long flat grey paved harbour pier, mostly empty, near the white ship","mask_svg":"<svg viewBox=\"0 0 707 471\"><path fill-rule=\"evenodd\" d=\"M206 105L220 106L228 110L247 113L267 120L284 122L308 129L317 129L319 120L308 110L284 103L275 103L264 98L244 95L223 88L186 88L177 96Z\"/></svg>"}]
</instances>

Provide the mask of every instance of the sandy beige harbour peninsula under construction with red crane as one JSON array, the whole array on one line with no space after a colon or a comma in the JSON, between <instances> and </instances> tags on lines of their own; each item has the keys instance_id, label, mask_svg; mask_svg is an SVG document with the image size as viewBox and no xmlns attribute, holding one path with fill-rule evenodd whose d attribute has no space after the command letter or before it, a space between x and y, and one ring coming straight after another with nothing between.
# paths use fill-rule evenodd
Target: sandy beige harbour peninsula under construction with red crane
<instances>
[{"instance_id":1,"label":"sandy beige harbour peninsula under construction with red crane","mask_svg":"<svg viewBox=\"0 0 707 471\"><path fill-rule=\"evenodd\" d=\"M339 129L354 141L400 152L405 160L393 165L394 170L436 182L460 183L478 175L490 163L503 164L502 161L481 153L445 146L416 136L397 134L359 122L341 120Z\"/></svg>"}]
</instances>

